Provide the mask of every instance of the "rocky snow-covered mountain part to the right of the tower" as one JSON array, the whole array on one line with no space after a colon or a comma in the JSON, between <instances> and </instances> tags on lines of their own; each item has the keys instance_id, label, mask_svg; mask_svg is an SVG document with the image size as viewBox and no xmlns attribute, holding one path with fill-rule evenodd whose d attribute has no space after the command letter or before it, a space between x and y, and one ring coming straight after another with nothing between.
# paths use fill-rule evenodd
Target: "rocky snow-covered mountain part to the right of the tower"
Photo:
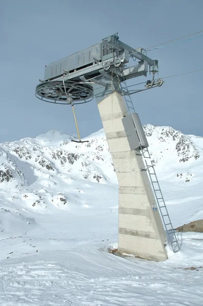
<instances>
[{"instance_id":1,"label":"rocky snow-covered mountain part to the right of the tower","mask_svg":"<svg viewBox=\"0 0 203 306\"><path fill-rule=\"evenodd\" d=\"M170 181L173 182L190 182L194 178L198 181L203 166L202 137L184 135L168 126L148 124L144 130L159 174L170 172Z\"/></svg>"}]
</instances>

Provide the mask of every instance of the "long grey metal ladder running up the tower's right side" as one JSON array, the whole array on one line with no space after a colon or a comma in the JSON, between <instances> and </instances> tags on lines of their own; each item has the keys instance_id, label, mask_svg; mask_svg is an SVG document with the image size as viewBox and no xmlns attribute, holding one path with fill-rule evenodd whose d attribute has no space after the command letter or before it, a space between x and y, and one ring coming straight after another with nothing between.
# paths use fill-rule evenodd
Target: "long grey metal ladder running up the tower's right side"
<instances>
[{"instance_id":1,"label":"long grey metal ladder running up the tower's right side","mask_svg":"<svg viewBox=\"0 0 203 306\"><path fill-rule=\"evenodd\" d=\"M122 70L121 70L121 73L122 73ZM124 97L128 111L130 112L130 114L132 114L132 113L135 113L135 108L134 108L134 105L131 99L131 94L128 90L128 86L126 85L123 74L122 74L122 77L123 77L123 81L120 82L120 90L121 90L122 96ZM167 233L168 242L171 245L173 252L177 252L180 250L179 241L177 240L175 231L173 230L173 226L172 226L169 214L168 214L166 203L165 203L165 200L164 200L164 197L163 197L160 185L159 185L157 174L155 172L155 166L153 165L151 161L151 157L150 157L148 148L142 148L141 146L140 148L141 148L140 154L145 163L145 169L143 170L147 171L148 173L148 177L151 183L151 187L153 188L153 193L154 193L157 207L158 207L161 219L162 219L162 223Z\"/></svg>"}]
</instances>

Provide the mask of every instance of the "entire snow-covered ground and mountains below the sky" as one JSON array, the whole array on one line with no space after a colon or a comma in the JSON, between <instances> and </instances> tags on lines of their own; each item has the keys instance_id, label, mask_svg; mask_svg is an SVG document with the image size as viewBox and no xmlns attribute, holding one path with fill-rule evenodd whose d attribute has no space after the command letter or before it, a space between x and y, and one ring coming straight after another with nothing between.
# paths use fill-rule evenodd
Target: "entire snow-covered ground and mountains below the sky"
<instances>
[{"instance_id":1,"label":"entire snow-covered ground and mountains below the sky","mask_svg":"<svg viewBox=\"0 0 203 306\"><path fill-rule=\"evenodd\" d=\"M174 226L203 218L203 138L144 127ZM118 189L103 130L0 145L0 305L202 305L203 234L162 263L121 258ZM182 237L181 237L182 236Z\"/></svg>"}]
</instances>

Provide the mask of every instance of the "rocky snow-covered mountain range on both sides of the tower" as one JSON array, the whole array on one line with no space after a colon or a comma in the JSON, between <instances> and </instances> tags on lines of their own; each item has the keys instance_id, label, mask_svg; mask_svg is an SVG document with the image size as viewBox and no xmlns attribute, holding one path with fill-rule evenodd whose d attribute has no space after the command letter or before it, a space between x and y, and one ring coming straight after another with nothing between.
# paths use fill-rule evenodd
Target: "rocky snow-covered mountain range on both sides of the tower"
<instances>
[{"instance_id":1,"label":"rocky snow-covered mountain range on both sides of the tower","mask_svg":"<svg viewBox=\"0 0 203 306\"><path fill-rule=\"evenodd\" d=\"M145 125L149 151L161 180L199 184L203 173L203 138L184 135L167 126ZM67 203L64 183L116 184L117 178L103 130L71 142L72 136L49 131L36 138L0 145L0 190L4 198L29 207ZM58 192L52 188L58 186ZM40 191L41 190L41 191ZM42 192L43 190L43 192ZM12 195L11 195L12 194ZM60 196L58 195L60 194ZM60 203L60 204L61 204Z\"/></svg>"}]
</instances>

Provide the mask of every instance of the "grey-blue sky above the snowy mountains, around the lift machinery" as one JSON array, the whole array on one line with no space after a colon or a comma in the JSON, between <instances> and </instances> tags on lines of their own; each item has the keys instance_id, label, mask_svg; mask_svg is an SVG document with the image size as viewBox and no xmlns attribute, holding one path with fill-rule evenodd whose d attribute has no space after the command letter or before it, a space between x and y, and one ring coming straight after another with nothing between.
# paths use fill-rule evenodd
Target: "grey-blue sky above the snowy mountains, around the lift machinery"
<instances>
[{"instance_id":1,"label":"grey-blue sky above the snowy mountains, around the lift machinery","mask_svg":"<svg viewBox=\"0 0 203 306\"><path fill-rule=\"evenodd\" d=\"M133 47L150 47L203 30L202 10L202 0L0 0L0 142L52 129L75 135L69 106L35 97L45 65L116 32ZM166 77L202 69L202 46L203 37L148 56L160 60L159 76ZM203 136L202 77L200 71L166 79L133 95L142 123ZM82 137L102 128L95 100L75 111Z\"/></svg>"}]
</instances>

